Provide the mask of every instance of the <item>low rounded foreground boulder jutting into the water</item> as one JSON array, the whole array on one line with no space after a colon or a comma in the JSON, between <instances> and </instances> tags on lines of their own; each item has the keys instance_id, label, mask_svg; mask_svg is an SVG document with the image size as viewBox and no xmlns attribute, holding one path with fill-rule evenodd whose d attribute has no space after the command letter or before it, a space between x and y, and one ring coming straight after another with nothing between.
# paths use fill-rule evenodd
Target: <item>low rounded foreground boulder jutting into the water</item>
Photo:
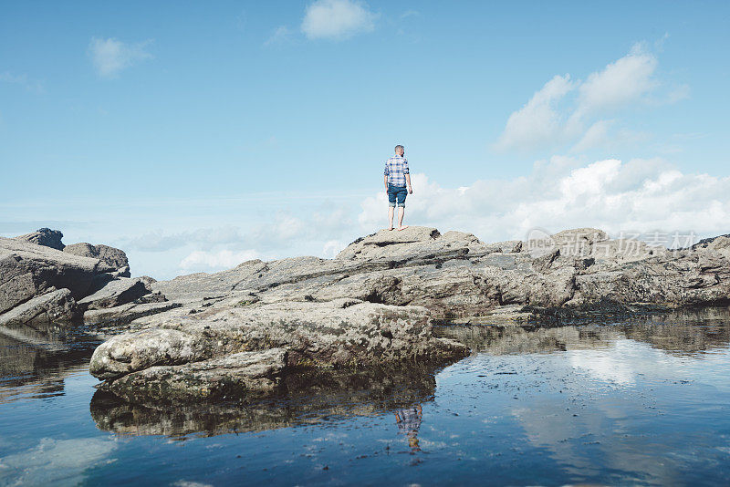
<instances>
[{"instance_id":1,"label":"low rounded foreground boulder jutting into the water","mask_svg":"<svg viewBox=\"0 0 730 487\"><path fill-rule=\"evenodd\" d=\"M340 299L322 304L282 302L210 309L186 319L164 316L149 316L148 328L113 337L99 346L91 358L91 374L115 379L116 383L120 377L159 365L182 365L270 348L287 350L288 367L351 368L355 364L443 360L468 353L466 347L451 340L433 337L430 314L418 306ZM165 380L172 380L169 374L178 370L183 369L168 368L160 373ZM130 379L129 384L136 380ZM124 397L130 399L135 389L127 389Z\"/></svg>"}]
</instances>

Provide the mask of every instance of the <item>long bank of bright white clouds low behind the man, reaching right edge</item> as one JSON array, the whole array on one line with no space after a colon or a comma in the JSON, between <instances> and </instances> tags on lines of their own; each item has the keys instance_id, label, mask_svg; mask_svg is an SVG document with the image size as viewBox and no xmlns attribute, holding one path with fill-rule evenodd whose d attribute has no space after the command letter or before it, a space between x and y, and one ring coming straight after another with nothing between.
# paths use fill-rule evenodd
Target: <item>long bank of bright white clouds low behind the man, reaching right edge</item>
<instances>
[{"instance_id":1,"label":"long bank of bright white clouds low behind the man, reaching right edge","mask_svg":"<svg viewBox=\"0 0 730 487\"><path fill-rule=\"evenodd\" d=\"M444 188L413 174L408 221L476 234L495 242L525 239L535 228L597 227L621 233L728 233L730 178L677 171L660 159L596 161L554 157L525 177ZM361 232L376 228L385 194L362 202Z\"/></svg>"}]
</instances>

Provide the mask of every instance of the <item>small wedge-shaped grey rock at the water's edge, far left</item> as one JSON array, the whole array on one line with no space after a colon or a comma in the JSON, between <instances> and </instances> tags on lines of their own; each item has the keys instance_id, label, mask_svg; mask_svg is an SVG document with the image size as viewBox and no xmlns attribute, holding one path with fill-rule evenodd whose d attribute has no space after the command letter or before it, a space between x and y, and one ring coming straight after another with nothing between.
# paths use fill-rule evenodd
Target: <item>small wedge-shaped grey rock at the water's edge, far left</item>
<instances>
[{"instance_id":1,"label":"small wedge-shaped grey rock at the water's edge, far left","mask_svg":"<svg viewBox=\"0 0 730 487\"><path fill-rule=\"evenodd\" d=\"M68 289L49 289L0 315L0 326L70 321L75 317L74 298Z\"/></svg>"}]
</instances>

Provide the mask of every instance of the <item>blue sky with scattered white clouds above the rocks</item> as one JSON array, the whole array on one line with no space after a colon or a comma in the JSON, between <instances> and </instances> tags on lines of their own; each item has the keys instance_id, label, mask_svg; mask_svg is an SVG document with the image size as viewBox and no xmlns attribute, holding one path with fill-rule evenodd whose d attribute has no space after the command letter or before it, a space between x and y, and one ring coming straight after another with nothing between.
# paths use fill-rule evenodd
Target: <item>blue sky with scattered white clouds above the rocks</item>
<instances>
[{"instance_id":1,"label":"blue sky with scattered white clouds above the rocks","mask_svg":"<svg viewBox=\"0 0 730 487\"><path fill-rule=\"evenodd\" d=\"M730 3L3 2L0 235L132 275L332 257L405 223L730 233Z\"/></svg>"}]
</instances>

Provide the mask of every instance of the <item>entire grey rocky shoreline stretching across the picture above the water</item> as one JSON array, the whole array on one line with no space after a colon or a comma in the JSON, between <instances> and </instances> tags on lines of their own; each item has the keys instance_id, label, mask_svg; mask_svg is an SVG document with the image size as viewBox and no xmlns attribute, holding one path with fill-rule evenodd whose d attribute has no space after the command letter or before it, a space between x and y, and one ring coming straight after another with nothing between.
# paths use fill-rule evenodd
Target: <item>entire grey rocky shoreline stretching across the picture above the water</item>
<instances>
[{"instance_id":1,"label":"entire grey rocky shoreline stretching across the picture above the water","mask_svg":"<svg viewBox=\"0 0 730 487\"><path fill-rule=\"evenodd\" d=\"M0 239L0 326L83 322L117 334L94 352L101 389L132 403L271 396L307 370L443 363L469 347L434 326L555 323L727 304L730 238L668 250L596 229L485 244L411 227L334 259L131 278L106 245L41 229Z\"/></svg>"}]
</instances>

